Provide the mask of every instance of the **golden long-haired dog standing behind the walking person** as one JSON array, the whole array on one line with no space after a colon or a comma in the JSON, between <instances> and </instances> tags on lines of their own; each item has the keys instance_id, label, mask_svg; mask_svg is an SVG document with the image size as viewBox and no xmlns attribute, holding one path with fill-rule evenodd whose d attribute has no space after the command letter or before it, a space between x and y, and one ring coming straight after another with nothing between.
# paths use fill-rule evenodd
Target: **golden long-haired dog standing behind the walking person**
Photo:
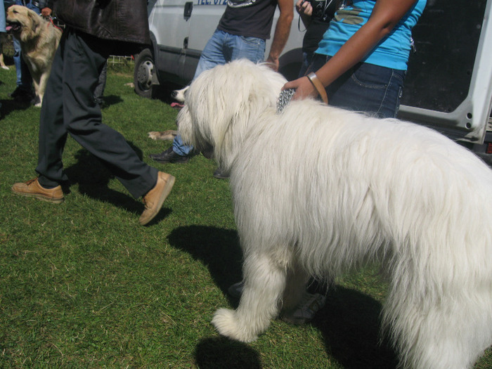
<instances>
[{"instance_id":1,"label":"golden long-haired dog standing behind the walking person","mask_svg":"<svg viewBox=\"0 0 492 369\"><path fill-rule=\"evenodd\" d=\"M44 89L62 32L25 6L9 7L6 21L7 32L20 42L22 58L31 72L36 106L39 107L43 103Z\"/></svg>"}]
</instances>

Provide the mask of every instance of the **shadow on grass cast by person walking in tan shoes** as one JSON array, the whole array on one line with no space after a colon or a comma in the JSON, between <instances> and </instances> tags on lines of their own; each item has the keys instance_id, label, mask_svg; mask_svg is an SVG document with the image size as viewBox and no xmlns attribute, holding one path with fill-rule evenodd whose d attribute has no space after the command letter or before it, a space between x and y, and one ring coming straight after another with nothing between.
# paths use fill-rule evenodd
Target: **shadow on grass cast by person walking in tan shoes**
<instances>
[{"instance_id":1,"label":"shadow on grass cast by person walking in tan shoes","mask_svg":"<svg viewBox=\"0 0 492 369\"><path fill-rule=\"evenodd\" d=\"M132 143L129 143L129 145L138 157L142 158L141 150ZM89 153L86 149L81 148L75 154L75 159L77 163L67 167L65 174L67 174L70 184L77 183L79 185L80 193L96 200L110 202L110 204L120 207L127 212L135 214L141 214L143 212L143 202L134 199L130 195L127 195L127 193L108 188L110 179L114 179L115 176L111 174L108 168L97 157ZM66 193L67 187L64 186L63 189ZM70 190L68 191L70 192ZM158 223L170 212L170 209L163 207L149 225Z\"/></svg>"}]
</instances>

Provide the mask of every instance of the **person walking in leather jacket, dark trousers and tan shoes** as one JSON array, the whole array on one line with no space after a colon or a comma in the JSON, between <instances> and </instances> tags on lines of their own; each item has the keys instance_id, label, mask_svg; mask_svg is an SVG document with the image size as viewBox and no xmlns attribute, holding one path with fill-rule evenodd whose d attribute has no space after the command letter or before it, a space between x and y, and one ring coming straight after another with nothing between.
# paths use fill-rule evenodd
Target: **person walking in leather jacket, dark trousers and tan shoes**
<instances>
[{"instance_id":1,"label":"person walking in leather jacket, dark trousers and tan shoes","mask_svg":"<svg viewBox=\"0 0 492 369\"><path fill-rule=\"evenodd\" d=\"M122 134L102 123L94 89L110 53L130 55L150 44L147 2L56 0L54 13L65 22L53 60L39 119L39 155L31 181L15 183L13 193L48 202L63 202L60 183L67 180L62 153L67 135L98 157L145 208L139 223L160 211L174 176L150 167Z\"/></svg>"}]
</instances>

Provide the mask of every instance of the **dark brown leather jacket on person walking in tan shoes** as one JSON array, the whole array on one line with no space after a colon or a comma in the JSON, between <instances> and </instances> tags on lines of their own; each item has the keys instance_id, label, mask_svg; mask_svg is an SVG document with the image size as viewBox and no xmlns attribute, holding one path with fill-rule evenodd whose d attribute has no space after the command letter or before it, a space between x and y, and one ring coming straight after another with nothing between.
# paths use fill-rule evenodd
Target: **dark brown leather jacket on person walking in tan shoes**
<instances>
[{"instance_id":1,"label":"dark brown leather jacket on person walking in tan shoes","mask_svg":"<svg viewBox=\"0 0 492 369\"><path fill-rule=\"evenodd\" d=\"M53 5L65 25L98 39L123 41L124 55L150 44L146 0L55 0Z\"/></svg>"}]
</instances>

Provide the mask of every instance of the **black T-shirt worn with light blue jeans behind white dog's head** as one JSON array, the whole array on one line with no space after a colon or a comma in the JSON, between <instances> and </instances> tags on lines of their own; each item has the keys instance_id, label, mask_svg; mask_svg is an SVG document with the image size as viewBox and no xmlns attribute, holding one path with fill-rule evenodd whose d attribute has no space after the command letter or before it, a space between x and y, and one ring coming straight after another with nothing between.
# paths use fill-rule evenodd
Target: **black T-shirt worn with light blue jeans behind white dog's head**
<instances>
[{"instance_id":1,"label":"black T-shirt worn with light blue jeans behind white dog's head","mask_svg":"<svg viewBox=\"0 0 492 369\"><path fill-rule=\"evenodd\" d=\"M228 0L218 30L269 39L277 0Z\"/></svg>"}]
</instances>

